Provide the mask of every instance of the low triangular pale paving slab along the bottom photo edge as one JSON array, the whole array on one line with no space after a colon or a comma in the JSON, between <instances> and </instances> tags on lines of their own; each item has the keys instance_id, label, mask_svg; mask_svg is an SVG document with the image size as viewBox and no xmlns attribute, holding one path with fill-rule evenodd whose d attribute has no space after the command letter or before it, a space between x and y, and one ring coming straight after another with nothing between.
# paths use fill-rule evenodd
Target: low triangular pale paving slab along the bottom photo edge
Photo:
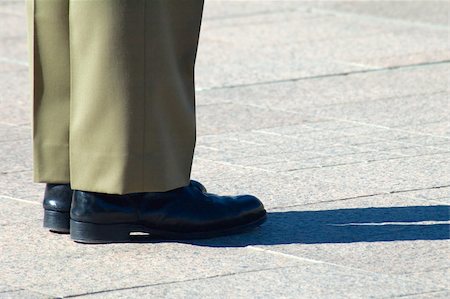
<instances>
[{"instance_id":1,"label":"low triangular pale paving slab along the bottom photo edge","mask_svg":"<svg viewBox=\"0 0 450 299\"><path fill-rule=\"evenodd\" d=\"M341 279L337 279L337 278ZM249 288L248 286L253 286ZM382 287L381 287L382 286ZM313 263L94 295L98 298L392 298L442 291L414 282Z\"/></svg>"}]
</instances>

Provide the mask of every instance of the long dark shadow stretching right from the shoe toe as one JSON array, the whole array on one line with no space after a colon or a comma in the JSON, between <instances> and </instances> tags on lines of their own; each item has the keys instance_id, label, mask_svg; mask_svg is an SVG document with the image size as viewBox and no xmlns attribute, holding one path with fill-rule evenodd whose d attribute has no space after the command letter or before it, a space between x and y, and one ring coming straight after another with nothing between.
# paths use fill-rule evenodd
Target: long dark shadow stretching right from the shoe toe
<instances>
[{"instance_id":1,"label":"long dark shadow stretching right from the shoe toe","mask_svg":"<svg viewBox=\"0 0 450 299\"><path fill-rule=\"evenodd\" d=\"M181 242L209 247L241 247L446 240L450 239L449 223L436 222L449 220L448 205L271 212L267 222L255 230L228 237Z\"/></svg>"}]
</instances>

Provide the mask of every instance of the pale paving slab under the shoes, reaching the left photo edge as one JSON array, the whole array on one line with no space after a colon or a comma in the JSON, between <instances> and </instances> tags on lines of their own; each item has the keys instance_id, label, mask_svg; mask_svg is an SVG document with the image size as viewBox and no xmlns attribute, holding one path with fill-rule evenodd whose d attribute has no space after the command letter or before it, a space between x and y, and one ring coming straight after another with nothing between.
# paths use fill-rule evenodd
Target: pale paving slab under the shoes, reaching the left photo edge
<instances>
[{"instance_id":1,"label":"pale paving slab under the shoes, reaching the left photo edge","mask_svg":"<svg viewBox=\"0 0 450 299\"><path fill-rule=\"evenodd\" d=\"M1 280L8 285L52 296L303 264L302 261L263 251L253 252L248 248L204 247L158 240L81 245L71 241L67 235L52 234L41 228L41 206L10 200L11 203L26 205L26 210L20 214L24 220L22 223L2 225Z\"/></svg>"}]
</instances>

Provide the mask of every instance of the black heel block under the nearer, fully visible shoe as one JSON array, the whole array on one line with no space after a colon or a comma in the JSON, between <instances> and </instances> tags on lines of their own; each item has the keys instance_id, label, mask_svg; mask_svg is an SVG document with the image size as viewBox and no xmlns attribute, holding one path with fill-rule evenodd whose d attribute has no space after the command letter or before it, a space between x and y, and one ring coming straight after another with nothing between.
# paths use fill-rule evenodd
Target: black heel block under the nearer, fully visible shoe
<instances>
[{"instance_id":1,"label":"black heel block under the nearer, fully visible shoe","mask_svg":"<svg viewBox=\"0 0 450 299\"><path fill-rule=\"evenodd\" d=\"M70 238L80 243L115 243L130 240L128 224L96 224L70 220Z\"/></svg>"}]
</instances>

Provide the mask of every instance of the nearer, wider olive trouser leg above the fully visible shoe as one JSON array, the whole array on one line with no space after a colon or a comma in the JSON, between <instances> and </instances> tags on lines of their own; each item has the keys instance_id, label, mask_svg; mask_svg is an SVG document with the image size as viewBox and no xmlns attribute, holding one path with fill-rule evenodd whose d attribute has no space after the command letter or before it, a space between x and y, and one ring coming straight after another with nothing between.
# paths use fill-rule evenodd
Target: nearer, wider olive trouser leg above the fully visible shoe
<instances>
[{"instance_id":1,"label":"nearer, wider olive trouser leg above the fully visible shoe","mask_svg":"<svg viewBox=\"0 0 450 299\"><path fill-rule=\"evenodd\" d=\"M187 185L203 0L71 0L70 179L124 194Z\"/></svg>"}]
</instances>

